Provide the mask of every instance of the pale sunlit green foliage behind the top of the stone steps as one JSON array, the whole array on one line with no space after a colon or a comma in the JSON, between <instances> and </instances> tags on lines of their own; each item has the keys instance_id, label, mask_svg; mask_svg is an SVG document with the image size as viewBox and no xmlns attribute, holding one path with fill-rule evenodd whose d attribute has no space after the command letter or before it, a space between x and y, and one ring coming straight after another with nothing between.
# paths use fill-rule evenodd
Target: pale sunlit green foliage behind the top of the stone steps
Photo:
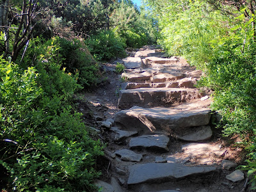
<instances>
[{"instance_id":1,"label":"pale sunlit green foliage behind the top of the stone steps","mask_svg":"<svg viewBox=\"0 0 256 192\"><path fill-rule=\"evenodd\" d=\"M156 42L156 28L147 11L134 7L131 2L115 4L111 15L111 28L124 39L127 47L140 48Z\"/></svg>"}]
</instances>

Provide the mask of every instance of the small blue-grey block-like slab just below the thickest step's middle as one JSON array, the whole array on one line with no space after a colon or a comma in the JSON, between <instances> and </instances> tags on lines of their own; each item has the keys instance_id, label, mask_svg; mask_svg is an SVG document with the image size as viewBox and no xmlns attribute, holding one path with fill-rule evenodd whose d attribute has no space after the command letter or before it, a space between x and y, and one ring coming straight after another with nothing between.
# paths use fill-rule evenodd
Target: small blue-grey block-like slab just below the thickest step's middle
<instances>
[{"instance_id":1,"label":"small blue-grey block-like slab just below the thickest step's middle","mask_svg":"<svg viewBox=\"0 0 256 192\"><path fill-rule=\"evenodd\" d=\"M149 148L163 149L169 151L168 143L170 138L164 134L143 135L136 138L131 138L129 142L130 148Z\"/></svg>"}]
</instances>

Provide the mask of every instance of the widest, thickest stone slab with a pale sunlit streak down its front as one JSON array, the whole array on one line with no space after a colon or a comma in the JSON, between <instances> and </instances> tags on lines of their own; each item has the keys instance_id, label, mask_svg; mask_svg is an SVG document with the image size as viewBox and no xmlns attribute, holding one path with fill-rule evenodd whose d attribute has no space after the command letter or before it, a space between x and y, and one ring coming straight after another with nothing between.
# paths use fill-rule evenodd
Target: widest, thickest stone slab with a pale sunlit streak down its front
<instances>
[{"instance_id":1,"label":"widest, thickest stone slab with a pale sunlit streak down its front","mask_svg":"<svg viewBox=\"0 0 256 192\"><path fill-rule=\"evenodd\" d=\"M115 115L115 123L123 129L155 132L179 129L180 127L196 127L209 124L211 118L209 108L140 108L133 107Z\"/></svg>"}]
</instances>

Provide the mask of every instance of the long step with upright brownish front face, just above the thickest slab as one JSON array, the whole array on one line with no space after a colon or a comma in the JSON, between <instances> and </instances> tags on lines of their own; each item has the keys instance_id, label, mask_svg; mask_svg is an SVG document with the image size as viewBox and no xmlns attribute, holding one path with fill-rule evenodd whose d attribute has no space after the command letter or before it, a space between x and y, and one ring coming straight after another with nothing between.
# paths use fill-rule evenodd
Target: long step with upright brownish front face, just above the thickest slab
<instances>
[{"instance_id":1,"label":"long step with upright brownish front face, just above the thickest slab","mask_svg":"<svg viewBox=\"0 0 256 192\"><path fill-rule=\"evenodd\" d=\"M152 108L157 106L170 107L173 104L201 98L195 89L188 88L138 88L120 90L118 108L129 109L132 106Z\"/></svg>"}]
</instances>

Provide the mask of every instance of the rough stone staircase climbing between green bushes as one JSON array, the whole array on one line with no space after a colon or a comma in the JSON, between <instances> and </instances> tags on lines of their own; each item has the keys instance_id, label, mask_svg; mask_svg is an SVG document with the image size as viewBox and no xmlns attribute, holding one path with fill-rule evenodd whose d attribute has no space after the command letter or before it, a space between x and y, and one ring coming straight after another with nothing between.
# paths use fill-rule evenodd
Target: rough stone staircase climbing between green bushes
<instances>
[{"instance_id":1,"label":"rough stone staircase climbing between green bushes","mask_svg":"<svg viewBox=\"0 0 256 192\"><path fill-rule=\"evenodd\" d=\"M209 142L211 99L195 88L202 72L164 56L149 47L124 59L107 151L114 191L236 191L214 184L225 149Z\"/></svg>"}]
</instances>

